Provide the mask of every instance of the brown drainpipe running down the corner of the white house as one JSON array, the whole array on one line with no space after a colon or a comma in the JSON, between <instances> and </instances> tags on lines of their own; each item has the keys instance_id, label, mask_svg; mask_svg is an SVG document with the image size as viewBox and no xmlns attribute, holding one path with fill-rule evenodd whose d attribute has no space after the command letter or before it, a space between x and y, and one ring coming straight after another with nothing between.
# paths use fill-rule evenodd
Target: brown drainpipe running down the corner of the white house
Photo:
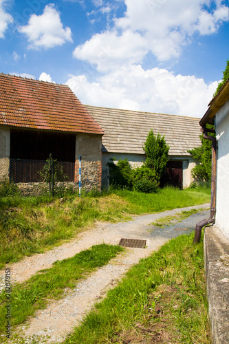
<instances>
[{"instance_id":1,"label":"brown drainpipe running down the corner of the white house","mask_svg":"<svg viewBox=\"0 0 229 344\"><path fill-rule=\"evenodd\" d=\"M212 141L212 180L211 180L211 195L210 195L210 217L209 219L203 219L195 226L195 237L193 242L199 242L201 237L201 229L207 224L215 224L215 212L216 212L216 175L217 175L217 140L214 136L209 136L208 132L215 133L214 129L206 129L202 127L203 137L206 140Z\"/></svg>"}]
</instances>

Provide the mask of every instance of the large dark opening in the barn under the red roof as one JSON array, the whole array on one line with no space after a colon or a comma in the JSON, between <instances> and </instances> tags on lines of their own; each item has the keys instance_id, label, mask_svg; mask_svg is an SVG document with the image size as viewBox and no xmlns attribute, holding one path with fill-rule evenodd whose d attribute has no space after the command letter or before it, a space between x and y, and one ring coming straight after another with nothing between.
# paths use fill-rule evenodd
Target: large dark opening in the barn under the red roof
<instances>
[{"instance_id":1,"label":"large dark opening in the barn under the red roof","mask_svg":"<svg viewBox=\"0 0 229 344\"><path fill-rule=\"evenodd\" d=\"M41 182L39 171L46 160L63 162L63 173L74 181L76 135L32 130L10 130L10 179Z\"/></svg>"}]
</instances>

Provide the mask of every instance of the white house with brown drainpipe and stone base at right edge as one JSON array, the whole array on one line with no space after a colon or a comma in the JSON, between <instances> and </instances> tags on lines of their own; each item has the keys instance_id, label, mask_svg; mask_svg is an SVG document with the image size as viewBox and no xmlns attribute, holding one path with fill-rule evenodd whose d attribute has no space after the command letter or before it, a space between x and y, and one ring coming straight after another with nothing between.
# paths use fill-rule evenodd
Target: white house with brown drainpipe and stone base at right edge
<instances>
[{"instance_id":1,"label":"white house with brown drainpipe and stone base at right edge","mask_svg":"<svg viewBox=\"0 0 229 344\"><path fill-rule=\"evenodd\" d=\"M212 141L212 193L210 218L196 226L195 241L204 230L204 252L213 344L229 343L229 79L210 101L199 124ZM207 124L215 125L216 138Z\"/></svg>"}]
</instances>

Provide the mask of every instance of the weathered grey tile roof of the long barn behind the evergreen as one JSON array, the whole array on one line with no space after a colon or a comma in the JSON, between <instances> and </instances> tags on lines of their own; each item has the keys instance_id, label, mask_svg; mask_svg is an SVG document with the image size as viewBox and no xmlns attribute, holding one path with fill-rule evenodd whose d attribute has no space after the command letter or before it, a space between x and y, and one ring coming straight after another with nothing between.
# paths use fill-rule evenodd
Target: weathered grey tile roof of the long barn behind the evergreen
<instances>
[{"instance_id":1,"label":"weathered grey tile roof of the long barn behind the evergreen","mask_svg":"<svg viewBox=\"0 0 229 344\"><path fill-rule=\"evenodd\" d=\"M142 145L150 129L165 136L169 155L189 155L187 149L199 147L199 118L109 109L85 105L105 131L102 151L144 154Z\"/></svg>"}]
</instances>

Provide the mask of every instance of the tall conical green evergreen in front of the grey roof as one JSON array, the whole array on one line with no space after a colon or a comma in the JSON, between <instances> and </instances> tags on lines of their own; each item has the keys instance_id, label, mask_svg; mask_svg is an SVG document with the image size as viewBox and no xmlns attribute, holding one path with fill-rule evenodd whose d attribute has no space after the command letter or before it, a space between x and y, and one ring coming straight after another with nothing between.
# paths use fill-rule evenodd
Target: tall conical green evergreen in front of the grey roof
<instances>
[{"instance_id":1,"label":"tall conical green evergreen in front of the grey roof","mask_svg":"<svg viewBox=\"0 0 229 344\"><path fill-rule=\"evenodd\" d=\"M155 171L160 181L166 171L166 163L168 162L169 146L166 144L164 136L160 136L160 133L155 136L151 129L146 142L144 142L143 149L146 153L145 165Z\"/></svg>"}]
</instances>

